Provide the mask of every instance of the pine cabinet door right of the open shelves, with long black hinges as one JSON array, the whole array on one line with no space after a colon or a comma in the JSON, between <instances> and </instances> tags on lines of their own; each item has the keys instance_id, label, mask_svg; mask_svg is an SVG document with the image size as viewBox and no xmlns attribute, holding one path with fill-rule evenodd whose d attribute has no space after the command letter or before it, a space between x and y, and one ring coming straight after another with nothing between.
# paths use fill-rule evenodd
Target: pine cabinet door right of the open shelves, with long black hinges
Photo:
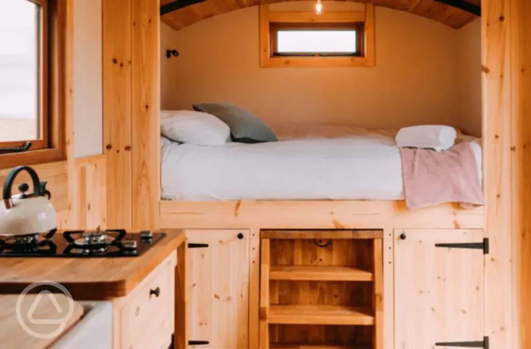
<instances>
[{"instance_id":1,"label":"pine cabinet door right of the open shelves, with long black hinges","mask_svg":"<svg viewBox=\"0 0 531 349\"><path fill-rule=\"evenodd\" d=\"M483 250L435 246L474 242L483 230L395 230L395 349L483 341Z\"/></svg>"}]
</instances>

